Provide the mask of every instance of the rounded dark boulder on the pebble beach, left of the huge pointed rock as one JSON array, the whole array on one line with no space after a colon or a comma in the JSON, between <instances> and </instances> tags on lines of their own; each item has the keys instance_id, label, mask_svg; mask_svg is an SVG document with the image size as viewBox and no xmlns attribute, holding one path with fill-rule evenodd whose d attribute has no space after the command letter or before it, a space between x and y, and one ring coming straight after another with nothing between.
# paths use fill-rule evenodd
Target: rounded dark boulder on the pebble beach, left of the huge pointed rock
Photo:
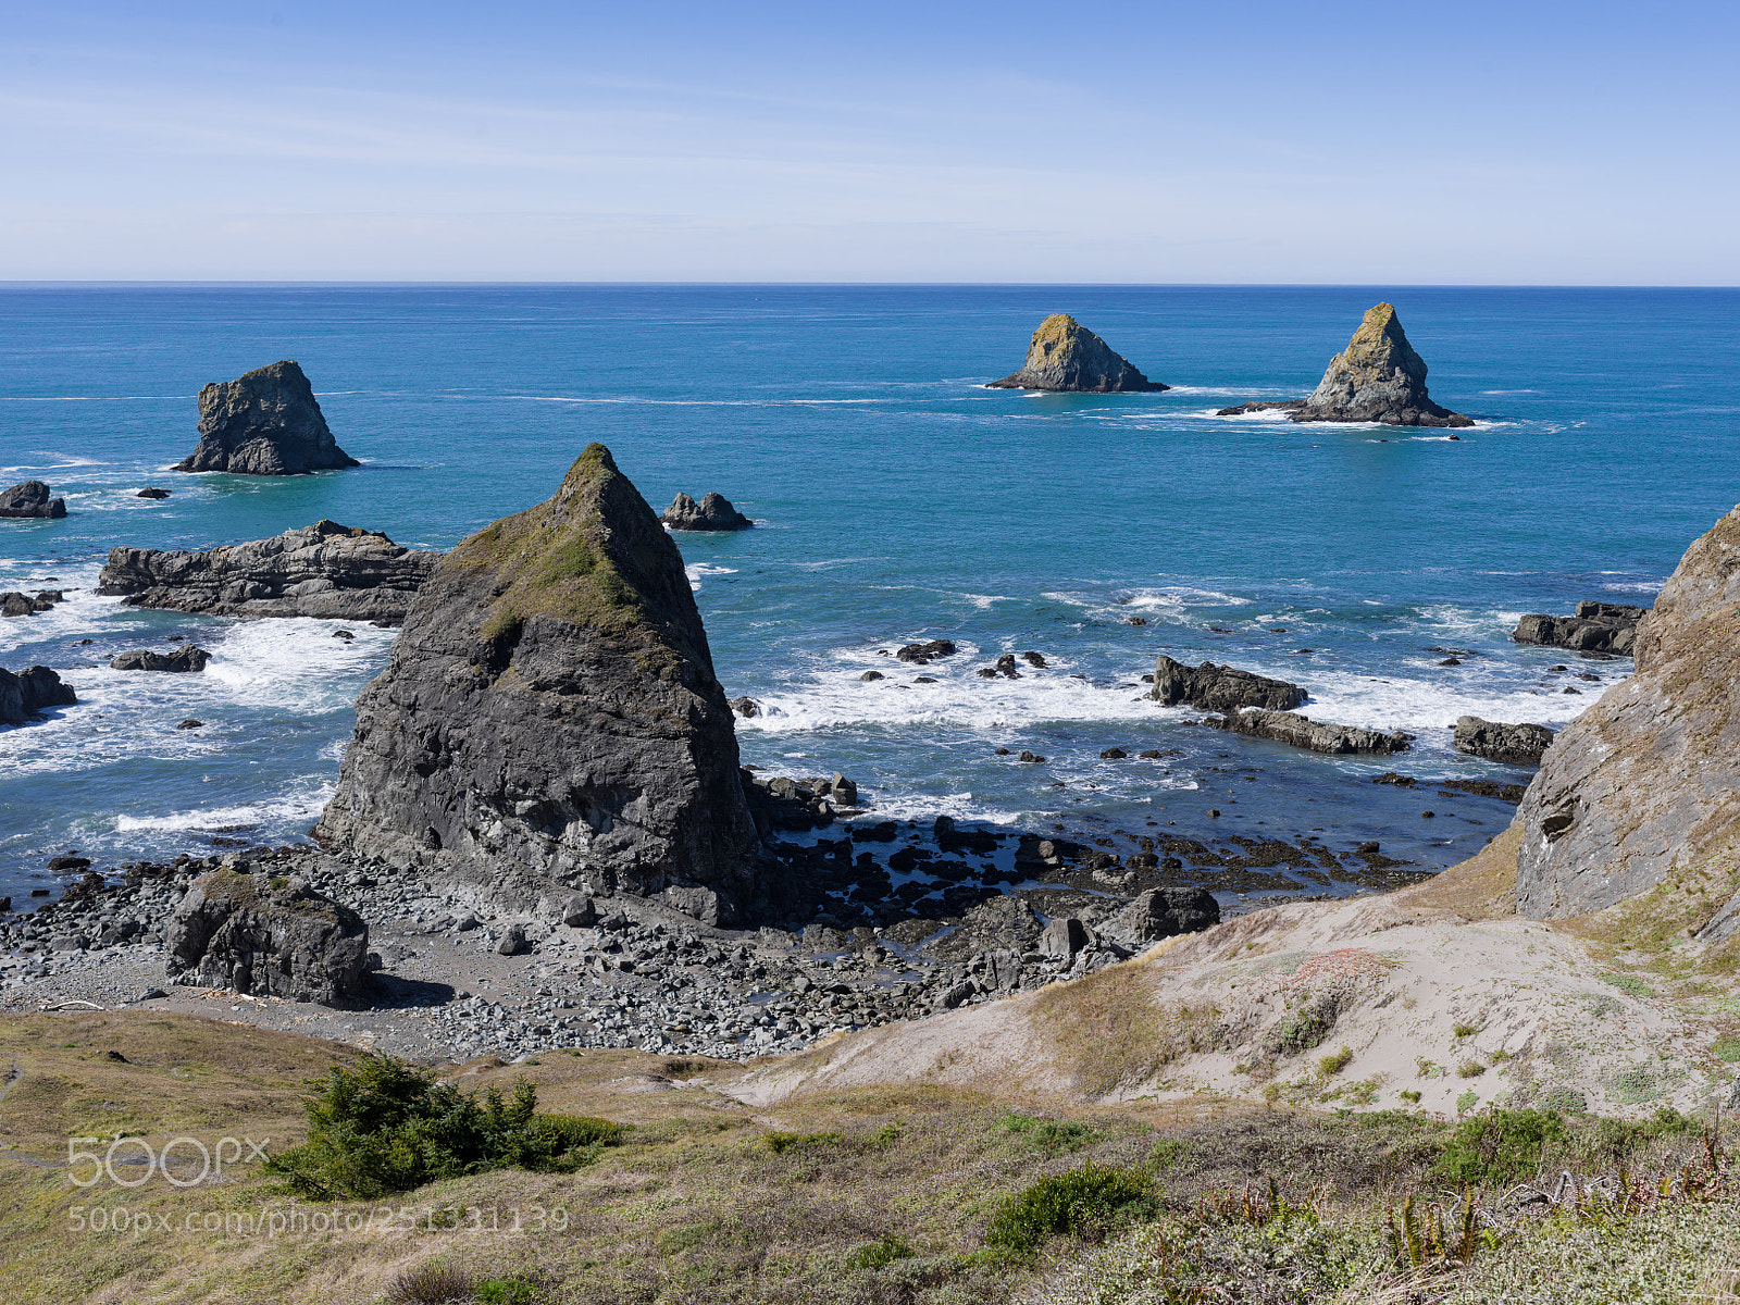
<instances>
[{"instance_id":1,"label":"rounded dark boulder on the pebble beach, left of the huge pointed rock","mask_svg":"<svg viewBox=\"0 0 1740 1305\"><path fill-rule=\"evenodd\" d=\"M169 917L164 952L176 983L334 1006L364 983L369 926L298 880L214 870Z\"/></svg>"}]
</instances>

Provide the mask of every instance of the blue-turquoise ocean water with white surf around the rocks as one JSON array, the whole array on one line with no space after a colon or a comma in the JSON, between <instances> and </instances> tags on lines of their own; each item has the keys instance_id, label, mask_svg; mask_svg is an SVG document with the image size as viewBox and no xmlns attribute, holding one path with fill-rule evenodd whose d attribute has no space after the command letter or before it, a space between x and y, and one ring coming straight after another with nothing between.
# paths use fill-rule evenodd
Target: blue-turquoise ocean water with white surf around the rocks
<instances>
[{"instance_id":1,"label":"blue-turquoise ocean water with white surf around the rocks","mask_svg":"<svg viewBox=\"0 0 1740 1305\"><path fill-rule=\"evenodd\" d=\"M1308 392L1380 298L1434 398L1479 419L1462 440L1213 416ZM717 489L760 522L679 536L720 680L767 708L740 727L748 762L844 771L900 818L1315 828L1453 863L1509 807L1371 776L1519 778L1455 755L1455 717L1559 726L1629 670L1549 673L1563 654L1505 635L1585 597L1648 604L1740 498L1737 306L1582 289L0 287L0 484L49 480L70 508L0 522L0 588L77 590L0 625L0 665L50 665L82 698L0 729L0 893L47 882L44 860L75 847L108 863L204 851L228 826L301 835L392 640L122 609L90 592L111 545L329 517L447 548L546 498L588 440L654 506ZM1051 311L1176 388L981 388ZM360 470L164 470L195 444L200 385L280 357ZM146 484L174 496L134 498ZM108 670L172 633L216 654L204 675ZM964 651L920 672L879 656L941 635ZM1429 647L1474 656L1441 668ZM973 675L1025 649L1049 668ZM1155 652L1296 680L1314 717L1420 741L1378 764L1208 734L1138 698ZM889 679L861 682L872 668ZM176 731L184 717L207 727ZM1100 760L1114 745L1178 755Z\"/></svg>"}]
</instances>

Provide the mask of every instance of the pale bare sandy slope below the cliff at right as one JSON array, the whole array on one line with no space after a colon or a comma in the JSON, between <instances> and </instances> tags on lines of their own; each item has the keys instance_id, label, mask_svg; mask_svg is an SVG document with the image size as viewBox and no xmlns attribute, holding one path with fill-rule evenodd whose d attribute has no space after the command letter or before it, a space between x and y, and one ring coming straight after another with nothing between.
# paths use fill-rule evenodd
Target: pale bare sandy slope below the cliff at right
<instances>
[{"instance_id":1,"label":"pale bare sandy slope below the cliff at right","mask_svg":"<svg viewBox=\"0 0 1740 1305\"><path fill-rule=\"evenodd\" d=\"M1517 919L1519 830L1382 898L1279 907L1067 987L844 1037L733 1094L974 1086L1056 1101L1185 1094L1453 1115L1488 1101L1603 1114L1724 1098L1733 983L1667 992L1573 929ZM1315 1023L1310 1016L1315 1016ZM1326 1054L1350 1060L1326 1070Z\"/></svg>"}]
</instances>

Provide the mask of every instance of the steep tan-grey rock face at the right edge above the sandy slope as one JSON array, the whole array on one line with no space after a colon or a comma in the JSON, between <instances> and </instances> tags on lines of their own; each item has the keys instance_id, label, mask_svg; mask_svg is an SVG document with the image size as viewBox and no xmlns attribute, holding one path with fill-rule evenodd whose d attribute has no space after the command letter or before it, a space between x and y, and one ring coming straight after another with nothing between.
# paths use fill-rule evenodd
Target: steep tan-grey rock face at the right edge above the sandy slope
<instances>
[{"instance_id":1,"label":"steep tan-grey rock face at the right edge above the sandy slope","mask_svg":"<svg viewBox=\"0 0 1740 1305\"><path fill-rule=\"evenodd\" d=\"M1559 731L1522 797L1522 915L1611 907L1740 840L1740 508L1686 550L1636 658Z\"/></svg>"}]
</instances>

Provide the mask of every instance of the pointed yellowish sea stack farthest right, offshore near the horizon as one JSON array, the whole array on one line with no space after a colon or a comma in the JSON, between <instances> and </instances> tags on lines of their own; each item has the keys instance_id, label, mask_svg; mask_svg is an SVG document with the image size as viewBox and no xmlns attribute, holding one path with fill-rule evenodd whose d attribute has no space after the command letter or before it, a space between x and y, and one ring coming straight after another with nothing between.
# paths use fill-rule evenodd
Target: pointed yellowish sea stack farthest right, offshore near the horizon
<instances>
[{"instance_id":1,"label":"pointed yellowish sea stack farthest right, offshore near the horizon","mask_svg":"<svg viewBox=\"0 0 1740 1305\"><path fill-rule=\"evenodd\" d=\"M1218 416L1286 409L1291 421L1382 421L1389 426L1472 426L1474 418L1432 402L1425 358L1415 353L1395 308L1366 310L1347 348L1307 398L1255 400L1220 409Z\"/></svg>"}]
</instances>

